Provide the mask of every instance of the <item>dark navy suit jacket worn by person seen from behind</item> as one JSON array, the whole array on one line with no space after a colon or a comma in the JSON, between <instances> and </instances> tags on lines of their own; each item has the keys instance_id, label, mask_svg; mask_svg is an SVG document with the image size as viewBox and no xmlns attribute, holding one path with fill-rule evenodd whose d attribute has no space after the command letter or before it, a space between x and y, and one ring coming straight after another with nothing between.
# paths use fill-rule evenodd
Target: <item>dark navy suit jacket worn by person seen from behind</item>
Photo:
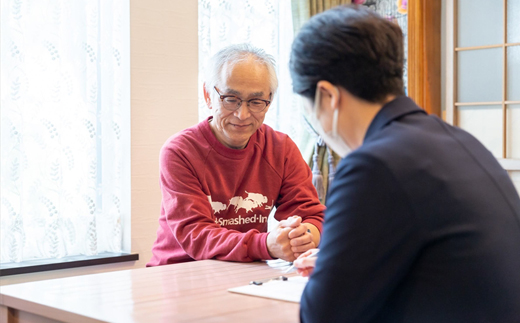
<instances>
[{"instance_id":1,"label":"dark navy suit jacket worn by person seen from behind","mask_svg":"<svg viewBox=\"0 0 520 323\"><path fill-rule=\"evenodd\" d=\"M303 322L520 322L520 199L467 132L395 99L327 207Z\"/></svg>"}]
</instances>

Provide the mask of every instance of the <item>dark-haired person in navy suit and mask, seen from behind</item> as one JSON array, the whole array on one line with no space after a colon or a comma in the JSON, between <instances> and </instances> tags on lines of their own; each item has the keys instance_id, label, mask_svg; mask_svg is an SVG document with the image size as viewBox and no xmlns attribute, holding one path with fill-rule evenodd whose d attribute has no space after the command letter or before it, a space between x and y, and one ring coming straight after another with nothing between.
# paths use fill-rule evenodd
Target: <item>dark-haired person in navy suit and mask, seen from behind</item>
<instances>
[{"instance_id":1,"label":"dark-haired person in navy suit and mask, seen from behind","mask_svg":"<svg viewBox=\"0 0 520 323\"><path fill-rule=\"evenodd\" d=\"M520 322L520 198L473 136L403 92L403 39L363 7L294 40L294 92L344 156L327 198L302 322ZM350 151L350 152L349 152Z\"/></svg>"}]
</instances>

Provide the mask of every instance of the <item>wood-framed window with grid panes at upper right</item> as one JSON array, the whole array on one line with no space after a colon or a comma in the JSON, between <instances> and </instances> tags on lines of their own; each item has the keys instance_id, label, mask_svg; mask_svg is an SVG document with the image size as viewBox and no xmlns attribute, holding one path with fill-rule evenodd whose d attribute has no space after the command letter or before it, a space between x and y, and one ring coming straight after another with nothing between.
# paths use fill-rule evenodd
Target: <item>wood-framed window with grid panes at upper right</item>
<instances>
[{"instance_id":1,"label":"wood-framed window with grid panes at upper right","mask_svg":"<svg viewBox=\"0 0 520 323\"><path fill-rule=\"evenodd\" d=\"M447 1L446 118L479 139L520 191L518 12L519 0Z\"/></svg>"}]
</instances>

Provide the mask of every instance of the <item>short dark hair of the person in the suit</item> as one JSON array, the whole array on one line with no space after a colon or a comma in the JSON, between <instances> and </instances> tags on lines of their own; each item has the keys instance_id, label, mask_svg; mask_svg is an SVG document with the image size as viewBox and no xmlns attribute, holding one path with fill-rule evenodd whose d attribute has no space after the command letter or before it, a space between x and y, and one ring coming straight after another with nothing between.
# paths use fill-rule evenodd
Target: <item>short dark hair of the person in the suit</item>
<instances>
[{"instance_id":1,"label":"short dark hair of the person in the suit","mask_svg":"<svg viewBox=\"0 0 520 323\"><path fill-rule=\"evenodd\" d=\"M296 36L290 70L294 92L314 98L329 81L354 96L381 103L403 95L403 34L364 6L338 6L313 16Z\"/></svg>"}]
</instances>

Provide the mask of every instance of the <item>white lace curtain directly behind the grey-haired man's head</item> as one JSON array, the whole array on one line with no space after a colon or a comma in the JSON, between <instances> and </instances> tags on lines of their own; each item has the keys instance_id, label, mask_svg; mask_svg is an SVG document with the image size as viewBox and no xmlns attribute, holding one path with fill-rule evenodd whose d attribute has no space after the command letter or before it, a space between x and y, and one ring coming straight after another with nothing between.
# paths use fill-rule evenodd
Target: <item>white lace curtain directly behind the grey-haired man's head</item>
<instances>
[{"instance_id":1,"label":"white lace curtain directly behind the grey-haired man's head","mask_svg":"<svg viewBox=\"0 0 520 323\"><path fill-rule=\"evenodd\" d=\"M250 43L277 63L278 93L264 122L299 144L304 130L289 74L292 40L291 0L199 0L199 119L210 115L202 94L207 60L228 45Z\"/></svg>"}]
</instances>

